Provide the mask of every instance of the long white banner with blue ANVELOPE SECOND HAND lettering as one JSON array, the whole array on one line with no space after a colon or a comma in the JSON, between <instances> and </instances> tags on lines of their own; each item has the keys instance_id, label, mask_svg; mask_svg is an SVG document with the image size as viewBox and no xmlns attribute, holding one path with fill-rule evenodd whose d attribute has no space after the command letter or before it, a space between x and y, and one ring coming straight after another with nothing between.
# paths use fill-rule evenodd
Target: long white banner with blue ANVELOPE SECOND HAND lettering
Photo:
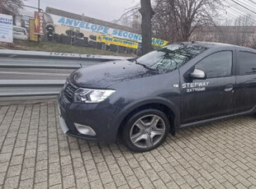
<instances>
[{"instance_id":1,"label":"long white banner with blue ANVELOPE SECOND HAND lettering","mask_svg":"<svg viewBox=\"0 0 256 189\"><path fill-rule=\"evenodd\" d=\"M131 33L124 30L117 30L117 29L109 28L102 25L96 25L96 24L92 24L84 21L78 21L78 20L64 17L64 16L57 16L53 14L49 14L49 15L51 16L52 21L54 22L53 24L55 25L55 28L57 28L57 30L55 31L61 30L61 29L58 29L58 26L62 26L62 27L66 27L67 29L73 28L75 30L79 30L80 32L83 32L83 33L88 33L90 35L95 35L95 33L97 33L100 35L111 36L111 38L125 39L125 40L133 41L136 43L142 42L142 36L139 34ZM165 41L163 39L153 38L152 44L154 46L163 47L166 44L168 44L168 41Z\"/></svg>"}]
</instances>

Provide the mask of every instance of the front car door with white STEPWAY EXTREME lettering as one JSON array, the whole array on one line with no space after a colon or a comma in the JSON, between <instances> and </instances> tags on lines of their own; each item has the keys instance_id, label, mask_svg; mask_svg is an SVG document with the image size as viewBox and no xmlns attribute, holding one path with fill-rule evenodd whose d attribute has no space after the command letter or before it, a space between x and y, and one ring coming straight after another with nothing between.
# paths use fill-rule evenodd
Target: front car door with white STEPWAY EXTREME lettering
<instances>
[{"instance_id":1,"label":"front car door with white STEPWAY EXTREME lettering","mask_svg":"<svg viewBox=\"0 0 256 189\"><path fill-rule=\"evenodd\" d=\"M231 113L235 86L234 53L235 48L211 53L188 70L190 73L195 69L204 71L205 78L189 76L186 79L181 74L182 124Z\"/></svg>"}]
</instances>

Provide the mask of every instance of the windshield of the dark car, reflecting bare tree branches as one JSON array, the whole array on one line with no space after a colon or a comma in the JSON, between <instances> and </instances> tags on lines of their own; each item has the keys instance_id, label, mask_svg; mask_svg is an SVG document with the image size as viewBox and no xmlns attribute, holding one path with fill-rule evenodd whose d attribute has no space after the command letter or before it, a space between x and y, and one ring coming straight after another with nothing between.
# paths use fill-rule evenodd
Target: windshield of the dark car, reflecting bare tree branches
<instances>
[{"instance_id":1,"label":"windshield of the dark car, reflecting bare tree branches","mask_svg":"<svg viewBox=\"0 0 256 189\"><path fill-rule=\"evenodd\" d=\"M156 71L168 72L178 69L207 48L194 44L171 44L147 53L136 62Z\"/></svg>"}]
</instances>

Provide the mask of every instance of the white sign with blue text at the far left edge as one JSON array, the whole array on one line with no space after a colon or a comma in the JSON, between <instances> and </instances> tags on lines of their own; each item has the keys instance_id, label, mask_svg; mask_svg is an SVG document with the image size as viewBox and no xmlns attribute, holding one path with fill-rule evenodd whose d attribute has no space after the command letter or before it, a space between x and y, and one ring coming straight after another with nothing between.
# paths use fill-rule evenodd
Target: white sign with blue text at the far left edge
<instances>
[{"instance_id":1,"label":"white sign with blue text at the far left edge","mask_svg":"<svg viewBox=\"0 0 256 189\"><path fill-rule=\"evenodd\" d=\"M13 43L12 16L0 14L0 42Z\"/></svg>"}]
</instances>

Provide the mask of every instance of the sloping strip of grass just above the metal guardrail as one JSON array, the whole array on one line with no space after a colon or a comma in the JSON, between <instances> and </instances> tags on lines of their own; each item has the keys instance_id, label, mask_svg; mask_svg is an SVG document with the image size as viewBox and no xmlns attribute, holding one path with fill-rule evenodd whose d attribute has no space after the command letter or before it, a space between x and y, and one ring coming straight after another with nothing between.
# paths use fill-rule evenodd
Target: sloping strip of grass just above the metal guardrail
<instances>
[{"instance_id":1,"label":"sloping strip of grass just above the metal guardrail","mask_svg":"<svg viewBox=\"0 0 256 189\"><path fill-rule=\"evenodd\" d=\"M58 53L81 53L135 57L135 54L113 53L111 51L100 50L97 48L78 47L69 44L57 44L53 42L33 42L16 39L14 39L13 44L0 43L0 47L13 50L31 50Z\"/></svg>"}]
</instances>

